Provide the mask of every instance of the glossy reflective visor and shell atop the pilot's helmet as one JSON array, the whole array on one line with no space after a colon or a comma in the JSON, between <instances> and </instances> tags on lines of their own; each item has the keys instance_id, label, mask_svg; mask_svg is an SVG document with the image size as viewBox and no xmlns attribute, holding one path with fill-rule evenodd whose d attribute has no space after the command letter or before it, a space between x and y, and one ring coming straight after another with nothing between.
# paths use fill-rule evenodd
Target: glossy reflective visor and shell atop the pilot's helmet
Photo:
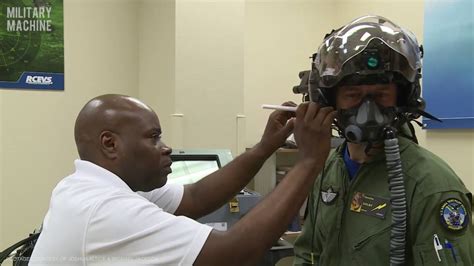
<instances>
[{"instance_id":1,"label":"glossy reflective visor and shell atop the pilot's helmet","mask_svg":"<svg viewBox=\"0 0 474 266\"><path fill-rule=\"evenodd\" d=\"M385 18L365 16L326 38L314 67L322 87L333 87L347 75L377 71L399 72L413 82L421 68L421 53L411 32Z\"/></svg>"}]
</instances>

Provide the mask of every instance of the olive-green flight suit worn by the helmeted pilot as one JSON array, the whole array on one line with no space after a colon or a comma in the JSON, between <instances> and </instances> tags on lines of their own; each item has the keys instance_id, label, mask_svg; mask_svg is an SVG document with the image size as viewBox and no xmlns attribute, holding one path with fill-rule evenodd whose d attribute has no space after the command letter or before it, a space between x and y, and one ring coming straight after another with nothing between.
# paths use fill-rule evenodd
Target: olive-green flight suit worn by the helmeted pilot
<instances>
[{"instance_id":1,"label":"olive-green flight suit worn by the helmeted pilot","mask_svg":"<svg viewBox=\"0 0 474 266\"><path fill-rule=\"evenodd\" d=\"M472 194L436 155L406 138L399 138L399 146L408 210L405 265L474 265ZM311 265L312 257L314 265L325 266L390 264L391 210L385 154L381 152L362 164L351 181L342 157L344 147L342 144L329 156L321 173L322 190L321 175L314 182L302 233L295 242L294 265ZM325 203L321 191L337 196ZM357 192L385 199L386 206L374 207L381 208L376 212L385 209L384 217L351 210ZM321 198L315 224L317 197ZM454 230L442 224L440 214L452 199L462 203L464 219L468 219L462 228ZM439 251L441 262L434 249L434 234L443 245L448 240L454 247Z\"/></svg>"}]
</instances>

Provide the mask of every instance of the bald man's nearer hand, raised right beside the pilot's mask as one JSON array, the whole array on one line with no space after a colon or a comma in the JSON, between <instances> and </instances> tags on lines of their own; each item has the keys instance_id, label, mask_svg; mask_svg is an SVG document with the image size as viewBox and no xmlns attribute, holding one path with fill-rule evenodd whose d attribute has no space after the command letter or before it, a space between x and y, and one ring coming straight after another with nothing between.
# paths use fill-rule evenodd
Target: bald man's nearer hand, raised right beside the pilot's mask
<instances>
[{"instance_id":1,"label":"bald man's nearer hand, raised right beside the pilot's mask","mask_svg":"<svg viewBox=\"0 0 474 266\"><path fill-rule=\"evenodd\" d=\"M294 134L302 161L323 166L331 149L331 125L336 113L332 107L320 108L314 102L298 106Z\"/></svg>"}]
</instances>

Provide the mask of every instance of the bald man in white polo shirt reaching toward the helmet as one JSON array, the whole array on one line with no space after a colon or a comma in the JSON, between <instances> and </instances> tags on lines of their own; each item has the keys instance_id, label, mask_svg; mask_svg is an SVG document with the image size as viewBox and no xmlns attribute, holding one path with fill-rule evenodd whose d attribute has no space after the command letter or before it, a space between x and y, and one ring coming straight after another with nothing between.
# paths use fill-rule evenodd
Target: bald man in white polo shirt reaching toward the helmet
<instances>
[{"instance_id":1,"label":"bald man in white polo shirt reaching toward the helmet","mask_svg":"<svg viewBox=\"0 0 474 266\"><path fill-rule=\"evenodd\" d=\"M166 184L171 148L141 101L102 95L75 124L80 160L54 189L30 265L247 265L284 232L330 149L331 107L275 111L261 141L191 185ZM194 218L238 193L294 132L300 160L287 178L229 231Z\"/></svg>"}]
</instances>

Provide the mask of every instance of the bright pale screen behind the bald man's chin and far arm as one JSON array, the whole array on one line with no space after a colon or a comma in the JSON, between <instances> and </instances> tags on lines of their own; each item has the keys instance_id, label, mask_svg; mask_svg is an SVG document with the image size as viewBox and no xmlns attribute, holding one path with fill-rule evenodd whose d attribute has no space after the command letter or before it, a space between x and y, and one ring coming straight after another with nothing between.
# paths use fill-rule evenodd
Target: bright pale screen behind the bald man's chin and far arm
<instances>
[{"instance_id":1,"label":"bright pale screen behind the bald man's chin and far arm","mask_svg":"<svg viewBox=\"0 0 474 266\"><path fill-rule=\"evenodd\" d=\"M171 153L170 184L196 183L232 160L230 150L176 149Z\"/></svg>"}]
</instances>

